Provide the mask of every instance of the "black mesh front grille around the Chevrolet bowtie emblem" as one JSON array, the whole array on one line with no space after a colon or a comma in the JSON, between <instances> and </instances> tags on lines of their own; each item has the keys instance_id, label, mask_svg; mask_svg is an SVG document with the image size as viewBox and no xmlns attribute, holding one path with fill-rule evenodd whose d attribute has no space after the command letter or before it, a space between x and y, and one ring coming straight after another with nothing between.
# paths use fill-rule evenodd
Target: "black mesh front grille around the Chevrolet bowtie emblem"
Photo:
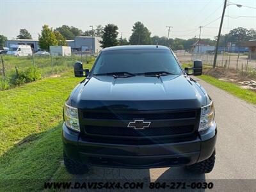
<instances>
[{"instance_id":1,"label":"black mesh front grille around the Chevrolet bowtie emblem","mask_svg":"<svg viewBox=\"0 0 256 192\"><path fill-rule=\"evenodd\" d=\"M149 145L188 140L197 135L200 109L158 111L79 111L82 137L98 143ZM150 122L149 127L128 127L134 120Z\"/></svg>"}]
</instances>

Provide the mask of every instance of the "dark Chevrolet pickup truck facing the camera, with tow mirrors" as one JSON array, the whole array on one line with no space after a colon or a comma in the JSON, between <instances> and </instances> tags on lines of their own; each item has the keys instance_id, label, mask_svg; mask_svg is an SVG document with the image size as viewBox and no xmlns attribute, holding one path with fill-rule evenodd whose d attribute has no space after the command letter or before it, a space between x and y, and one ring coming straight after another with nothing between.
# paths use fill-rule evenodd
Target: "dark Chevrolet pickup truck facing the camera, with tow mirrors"
<instances>
[{"instance_id":1,"label":"dark Chevrolet pickup truck facing the camera, with tow mirrors","mask_svg":"<svg viewBox=\"0 0 256 192\"><path fill-rule=\"evenodd\" d=\"M63 109L63 158L68 172L90 166L161 168L186 166L195 173L214 167L216 123L211 97L182 68L173 51L158 45L103 49Z\"/></svg>"}]
</instances>

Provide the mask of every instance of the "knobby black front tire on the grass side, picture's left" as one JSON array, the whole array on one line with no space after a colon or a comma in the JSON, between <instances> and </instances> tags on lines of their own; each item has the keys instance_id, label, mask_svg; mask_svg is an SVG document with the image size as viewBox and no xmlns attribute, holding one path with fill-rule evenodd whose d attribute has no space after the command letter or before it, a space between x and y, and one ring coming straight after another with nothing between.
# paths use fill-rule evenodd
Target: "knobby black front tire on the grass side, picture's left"
<instances>
[{"instance_id":1,"label":"knobby black front tire on the grass side, picture's left","mask_svg":"<svg viewBox=\"0 0 256 192\"><path fill-rule=\"evenodd\" d=\"M81 175L84 173L89 172L89 166L86 164L80 163L79 161L74 161L73 159L70 159L67 157L65 152L63 152L63 160L65 167L67 169L67 172L73 175Z\"/></svg>"}]
</instances>

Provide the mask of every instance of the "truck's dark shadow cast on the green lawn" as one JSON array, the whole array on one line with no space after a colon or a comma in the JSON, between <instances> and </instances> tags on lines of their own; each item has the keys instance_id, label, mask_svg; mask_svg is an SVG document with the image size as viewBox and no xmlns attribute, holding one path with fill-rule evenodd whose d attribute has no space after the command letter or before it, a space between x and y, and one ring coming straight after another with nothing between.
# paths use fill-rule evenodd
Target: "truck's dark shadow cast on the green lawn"
<instances>
[{"instance_id":1,"label":"truck's dark shadow cast on the green lawn","mask_svg":"<svg viewBox=\"0 0 256 192\"><path fill-rule=\"evenodd\" d=\"M0 191L38 191L62 161L60 122L27 136L0 157Z\"/></svg>"}]
</instances>

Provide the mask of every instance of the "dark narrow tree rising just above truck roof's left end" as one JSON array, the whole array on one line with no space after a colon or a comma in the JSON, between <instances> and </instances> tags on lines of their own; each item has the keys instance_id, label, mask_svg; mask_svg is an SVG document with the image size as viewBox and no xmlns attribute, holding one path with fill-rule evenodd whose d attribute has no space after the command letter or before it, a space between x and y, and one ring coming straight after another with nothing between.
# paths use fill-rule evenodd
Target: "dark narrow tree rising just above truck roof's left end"
<instances>
[{"instance_id":1,"label":"dark narrow tree rising just above truck roof's left end","mask_svg":"<svg viewBox=\"0 0 256 192\"><path fill-rule=\"evenodd\" d=\"M118 45L117 35L118 27L114 24L107 24L103 30L101 47L111 47Z\"/></svg>"}]
</instances>

